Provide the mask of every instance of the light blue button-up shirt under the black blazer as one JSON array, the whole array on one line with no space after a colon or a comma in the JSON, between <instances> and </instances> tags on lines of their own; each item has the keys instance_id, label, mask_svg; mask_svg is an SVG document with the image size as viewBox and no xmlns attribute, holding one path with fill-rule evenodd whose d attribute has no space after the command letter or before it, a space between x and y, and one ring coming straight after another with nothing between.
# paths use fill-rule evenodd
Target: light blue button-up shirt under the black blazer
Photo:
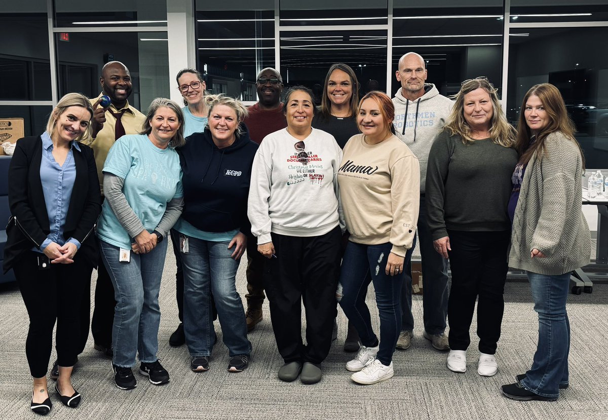
<instances>
[{"instance_id":1,"label":"light blue button-up shirt under the black blazer","mask_svg":"<svg viewBox=\"0 0 608 420\"><path fill-rule=\"evenodd\" d=\"M67 209L72 197L72 189L76 180L76 164L74 162L73 148L80 151L78 142L71 142L70 150L67 152L66 161L60 166L53 156L53 141L46 131L42 134L42 161L40 163L40 181L44 193L46 213L49 215L50 233L40 246L44 250L50 243L55 242L63 246L71 242L80 249L77 239L63 239L63 228L66 224Z\"/></svg>"}]
</instances>

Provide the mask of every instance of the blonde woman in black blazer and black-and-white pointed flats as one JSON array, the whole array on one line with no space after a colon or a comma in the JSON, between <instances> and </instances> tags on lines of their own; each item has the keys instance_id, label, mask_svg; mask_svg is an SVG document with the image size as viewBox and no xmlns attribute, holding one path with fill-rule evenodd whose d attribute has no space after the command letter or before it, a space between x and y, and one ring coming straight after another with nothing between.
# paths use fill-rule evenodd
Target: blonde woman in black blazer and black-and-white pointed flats
<instances>
[{"instance_id":1,"label":"blonde woman in black blazer and black-and-white pointed flats","mask_svg":"<svg viewBox=\"0 0 608 420\"><path fill-rule=\"evenodd\" d=\"M67 94L52 111L46 131L16 143L9 168L4 271L13 269L30 318L27 362L33 378L32 411L50 411L46 373L57 320L57 394L76 407L71 384L80 349L80 306L97 265L95 223L101 197L93 152L78 144L93 111L82 94Z\"/></svg>"}]
</instances>

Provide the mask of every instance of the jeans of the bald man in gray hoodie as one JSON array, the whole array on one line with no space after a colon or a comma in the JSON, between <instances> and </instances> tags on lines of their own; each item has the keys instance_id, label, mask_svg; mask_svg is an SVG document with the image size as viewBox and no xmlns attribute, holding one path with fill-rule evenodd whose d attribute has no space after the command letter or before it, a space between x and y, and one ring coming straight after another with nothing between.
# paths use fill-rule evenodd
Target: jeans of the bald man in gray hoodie
<instances>
[{"instance_id":1,"label":"jeans of the bald man in gray hoodie","mask_svg":"<svg viewBox=\"0 0 608 420\"><path fill-rule=\"evenodd\" d=\"M424 196L420 196L420 214L418 215L418 229L416 230L420 241L420 256L422 260L423 284L423 322L424 331L429 334L441 334L446 329L447 298L447 260L443 258L433 246L433 238L429 224L426 221L426 203ZM414 243L415 244L415 243ZM413 246L412 246L413 249ZM406 261L401 291L401 330L412 331L414 318L412 315L412 263Z\"/></svg>"}]
</instances>

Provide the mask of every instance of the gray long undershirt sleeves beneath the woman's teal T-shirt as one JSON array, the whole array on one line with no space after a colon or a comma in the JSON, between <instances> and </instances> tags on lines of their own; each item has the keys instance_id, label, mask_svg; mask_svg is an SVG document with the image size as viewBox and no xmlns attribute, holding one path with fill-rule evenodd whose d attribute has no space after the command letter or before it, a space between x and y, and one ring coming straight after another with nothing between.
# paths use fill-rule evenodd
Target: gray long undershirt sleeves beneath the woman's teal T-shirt
<instances>
[{"instance_id":1,"label":"gray long undershirt sleeves beneath the woman's teal T-shirt","mask_svg":"<svg viewBox=\"0 0 608 420\"><path fill-rule=\"evenodd\" d=\"M108 200L112 212L114 212L122 227L125 228L131 238L135 238L142 233L144 227L142 221L137 217L128 201L126 201L126 197L122 192L123 184L125 184L125 180L120 176L107 172L103 173L103 192L106 200ZM162 215L161 221L158 222L156 230L166 238L171 227L178 221L183 209L183 197L171 199L167 203L165 213Z\"/></svg>"}]
</instances>

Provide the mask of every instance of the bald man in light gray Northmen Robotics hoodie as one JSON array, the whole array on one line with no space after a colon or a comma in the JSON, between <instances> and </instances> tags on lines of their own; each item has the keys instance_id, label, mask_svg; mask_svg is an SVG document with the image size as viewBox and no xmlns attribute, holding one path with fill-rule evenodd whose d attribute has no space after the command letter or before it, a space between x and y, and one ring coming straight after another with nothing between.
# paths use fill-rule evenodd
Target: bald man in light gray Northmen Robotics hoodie
<instances>
[{"instance_id":1,"label":"bald man in light gray Northmen Robotics hoodie","mask_svg":"<svg viewBox=\"0 0 608 420\"><path fill-rule=\"evenodd\" d=\"M406 143L420 162L420 215L418 216L418 244L422 258L424 338L438 350L449 350L444 335L447 317L447 260L435 251L426 221L424 191L430 146L446 123L454 102L439 94L427 78L424 59L408 52L399 59L396 71L401 88L393 98L396 134ZM406 280L401 295L402 326L396 348L406 350L413 337L412 266L406 267Z\"/></svg>"}]
</instances>

